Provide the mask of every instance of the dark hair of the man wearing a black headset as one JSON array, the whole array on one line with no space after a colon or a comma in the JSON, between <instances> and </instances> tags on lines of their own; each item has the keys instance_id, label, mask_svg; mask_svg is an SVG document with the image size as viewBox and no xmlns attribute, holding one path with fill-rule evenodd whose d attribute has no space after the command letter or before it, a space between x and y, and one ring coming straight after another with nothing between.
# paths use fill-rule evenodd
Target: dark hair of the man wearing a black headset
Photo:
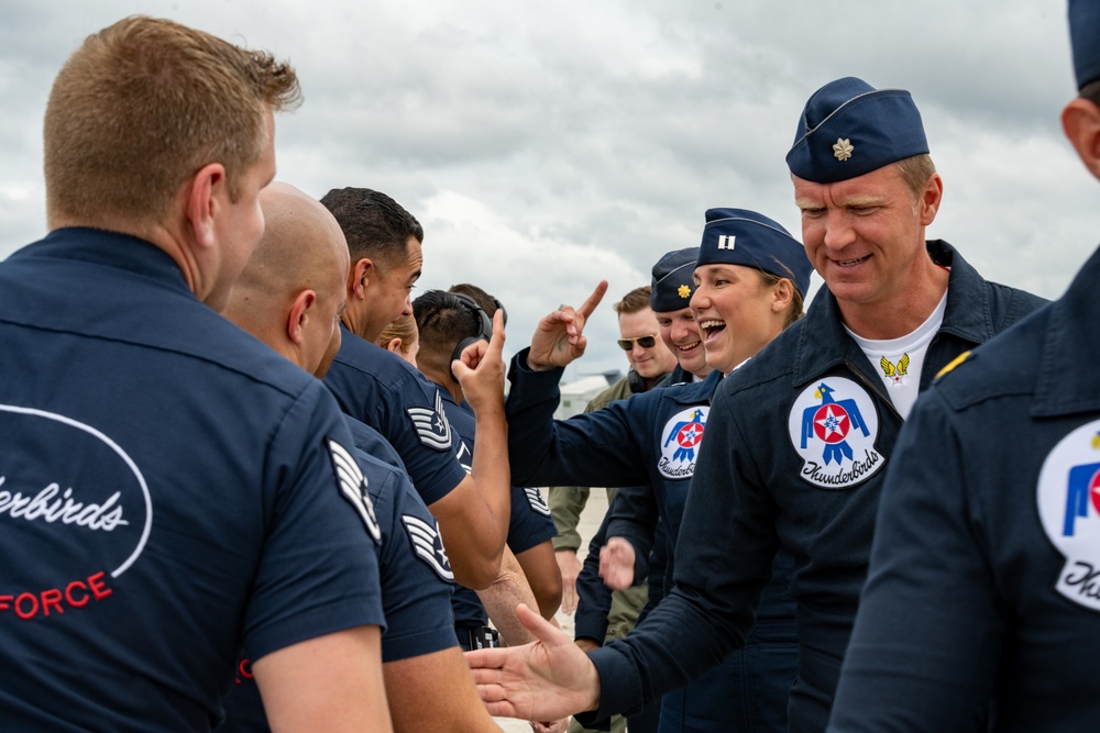
<instances>
[{"instance_id":1,"label":"dark hair of the man wearing a black headset","mask_svg":"<svg viewBox=\"0 0 1100 733\"><path fill-rule=\"evenodd\" d=\"M420 332L418 362L440 371L450 371L463 342L476 341L485 330L484 311L473 300L444 290L428 290L414 300L413 316Z\"/></svg>"}]
</instances>

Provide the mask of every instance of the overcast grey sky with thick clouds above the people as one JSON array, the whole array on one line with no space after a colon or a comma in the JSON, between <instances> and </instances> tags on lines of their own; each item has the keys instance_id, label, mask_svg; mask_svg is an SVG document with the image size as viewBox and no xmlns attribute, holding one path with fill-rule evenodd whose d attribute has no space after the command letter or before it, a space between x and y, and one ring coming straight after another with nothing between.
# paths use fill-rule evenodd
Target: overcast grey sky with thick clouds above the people
<instances>
[{"instance_id":1,"label":"overcast grey sky with thick clouds above the people","mask_svg":"<svg viewBox=\"0 0 1100 733\"><path fill-rule=\"evenodd\" d=\"M393 196L426 230L419 288L496 295L508 351L608 279L569 378L625 366L610 301L698 244L706 209L801 238L784 156L837 77L913 93L945 180L928 236L988 278L1057 297L1100 238L1100 190L1058 122L1075 93L1059 1L6 0L0 257L45 231L53 77L132 13L288 58L306 102L277 120L278 178Z\"/></svg>"}]
</instances>

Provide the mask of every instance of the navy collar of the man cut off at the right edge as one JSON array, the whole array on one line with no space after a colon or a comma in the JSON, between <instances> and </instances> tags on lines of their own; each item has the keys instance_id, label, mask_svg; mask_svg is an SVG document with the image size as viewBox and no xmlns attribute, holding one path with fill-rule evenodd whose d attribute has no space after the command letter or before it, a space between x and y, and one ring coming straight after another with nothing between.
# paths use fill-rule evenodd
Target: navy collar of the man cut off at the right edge
<instances>
[{"instance_id":1,"label":"navy collar of the man cut off at the right edge","mask_svg":"<svg viewBox=\"0 0 1100 733\"><path fill-rule=\"evenodd\" d=\"M1035 403L1036 418L1100 410L1092 365L1100 341L1100 248L1070 282L1066 295L1048 308ZM1077 368L1072 368L1076 365Z\"/></svg>"}]
</instances>

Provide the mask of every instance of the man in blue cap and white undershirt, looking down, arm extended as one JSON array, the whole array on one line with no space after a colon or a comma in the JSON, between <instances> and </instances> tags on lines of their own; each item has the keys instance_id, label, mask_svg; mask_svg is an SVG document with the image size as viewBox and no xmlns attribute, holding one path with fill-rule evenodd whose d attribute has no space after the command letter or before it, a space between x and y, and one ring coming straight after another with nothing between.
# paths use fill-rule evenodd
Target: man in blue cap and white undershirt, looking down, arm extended
<instances>
[{"instance_id":1,"label":"man in blue cap and white undershirt, looking down, arm extended","mask_svg":"<svg viewBox=\"0 0 1100 733\"><path fill-rule=\"evenodd\" d=\"M635 638L575 664L572 706L637 706L741 645L784 548L796 558L799 604L790 728L824 730L905 415L939 369L1042 302L987 282L946 242L925 241L943 181L909 92L850 77L827 84L806 103L787 160L806 255L826 287L806 318L717 390L707 442L724 447L701 455L676 588ZM481 679L494 674L505 678ZM494 696L527 700L518 688L483 690Z\"/></svg>"}]
</instances>

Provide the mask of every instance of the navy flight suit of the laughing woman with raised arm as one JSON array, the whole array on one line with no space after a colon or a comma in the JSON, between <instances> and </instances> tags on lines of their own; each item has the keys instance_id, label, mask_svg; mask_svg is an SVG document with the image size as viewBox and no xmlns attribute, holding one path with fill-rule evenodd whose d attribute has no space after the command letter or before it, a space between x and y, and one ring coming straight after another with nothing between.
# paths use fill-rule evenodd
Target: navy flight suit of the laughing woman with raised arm
<instances>
[{"instance_id":1,"label":"navy flight suit of the laughing woman with raised arm","mask_svg":"<svg viewBox=\"0 0 1100 733\"><path fill-rule=\"evenodd\" d=\"M658 503L648 509L660 512L664 522L670 548L666 577L670 577L678 563L680 519L711 395L721 384L722 374L714 371L701 382L632 395L602 410L553 421L561 369L532 373L524 366L526 360L525 351L516 356L509 370L513 387L506 410L513 481L652 486ZM656 518L650 519L656 522ZM745 649L728 655L722 667L685 690L664 697L662 731L785 730L787 697L794 681L796 658L794 603L787 595L791 566L789 556L777 556L759 623ZM768 573L771 570L769 562ZM669 647L659 662L673 666L680 663L674 647ZM608 708L606 713L634 714L638 710L640 706L631 704ZM583 719L582 723L588 724Z\"/></svg>"}]
</instances>

